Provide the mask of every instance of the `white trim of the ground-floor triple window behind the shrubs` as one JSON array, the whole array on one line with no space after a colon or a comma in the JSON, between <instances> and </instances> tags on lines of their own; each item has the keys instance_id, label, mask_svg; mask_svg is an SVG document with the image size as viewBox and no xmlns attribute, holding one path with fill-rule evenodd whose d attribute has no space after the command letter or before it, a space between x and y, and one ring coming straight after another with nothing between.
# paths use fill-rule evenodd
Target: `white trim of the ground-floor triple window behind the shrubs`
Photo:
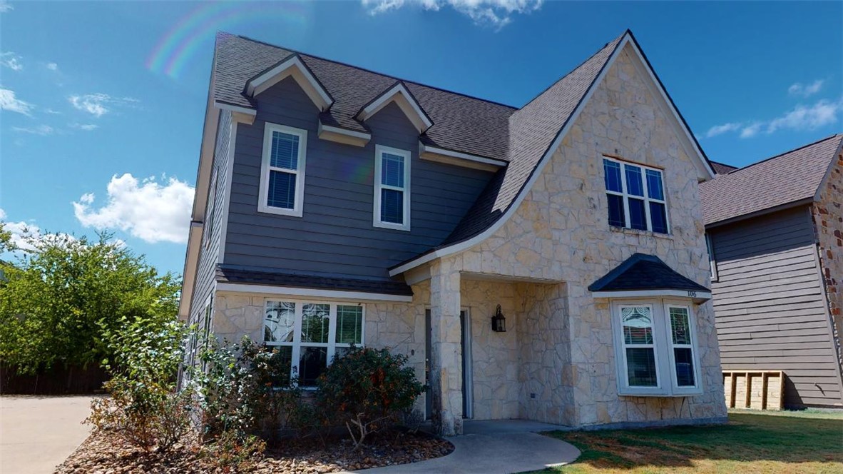
<instances>
[{"instance_id":1,"label":"white trim of the ground-floor triple window behind the shrubs","mask_svg":"<svg viewBox=\"0 0 843 474\"><path fill-rule=\"evenodd\" d=\"M296 311L293 317L293 342L267 342L263 344L267 347L293 347L290 363L290 377L291 380L298 379L298 364L301 361L302 347L327 347L327 362L328 365L334 360L337 347L352 347L351 344L336 342L336 307L337 306L360 306L362 307L362 320L360 326L360 344L358 347L365 347L366 345L366 304L354 303L350 301L320 301L318 299L292 299L292 298L265 298L264 299L264 316L261 319L261 334L263 334L263 325L266 324L266 304L273 302L295 303ZM305 304L328 304L328 342L305 342L302 344L302 313ZM302 387L304 390L314 390L314 387Z\"/></svg>"}]
</instances>

